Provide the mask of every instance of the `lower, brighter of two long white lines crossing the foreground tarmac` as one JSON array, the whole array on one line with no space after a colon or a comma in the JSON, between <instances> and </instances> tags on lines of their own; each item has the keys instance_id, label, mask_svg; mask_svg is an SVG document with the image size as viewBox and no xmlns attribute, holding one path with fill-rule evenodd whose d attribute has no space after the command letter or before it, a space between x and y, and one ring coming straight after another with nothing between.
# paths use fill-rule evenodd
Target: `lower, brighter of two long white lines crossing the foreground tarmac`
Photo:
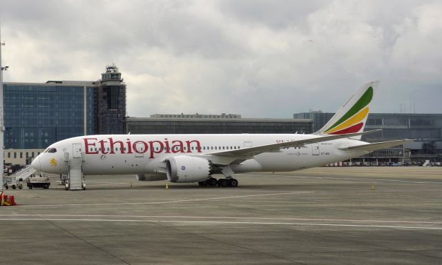
<instances>
[{"instance_id":1,"label":"lower, brighter of two long white lines crossing the foreground tarmac","mask_svg":"<svg viewBox=\"0 0 442 265\"><path fill-rule=\"evenodd\" d=\"M185 223L185 224L251 224L251 225L291 225L291 226L340 226L340 227L368 227L368 228L396 228L396 229L425 229L442 230L442 227L425 226L380 226L367 224L314 224L289 222L227 222L227 221L178 221L178 220L135 220L135 219L58 219L58 218L6 218L0 221L65 221L65 222L133 222L133 223Z\"/></svg>"}]
</instances>

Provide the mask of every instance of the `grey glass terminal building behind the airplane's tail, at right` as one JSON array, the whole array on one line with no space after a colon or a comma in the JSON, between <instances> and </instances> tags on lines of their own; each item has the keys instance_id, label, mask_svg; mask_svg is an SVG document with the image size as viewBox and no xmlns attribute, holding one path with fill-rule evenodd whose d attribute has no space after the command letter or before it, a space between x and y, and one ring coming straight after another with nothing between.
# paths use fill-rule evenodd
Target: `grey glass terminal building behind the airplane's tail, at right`
<instances>
[{"instance_id":1,"label":"grey glass terminal building behind the airplane's tail, at right","mask_svg":"<svg viewBox=\"0 0 442 265\"><path fill-rule=\"evenodd\" d=\"M330 112L313 111L296 113L294 118L311 119L314 130L319 130L333 115ZM396 139L416 141L396 148L376 150L353 161L370 164L442 161L442 114L369 113L365 130L376 129L381 131L363 135L362 139L369 142Z\"/></svg>"}]
</instances>

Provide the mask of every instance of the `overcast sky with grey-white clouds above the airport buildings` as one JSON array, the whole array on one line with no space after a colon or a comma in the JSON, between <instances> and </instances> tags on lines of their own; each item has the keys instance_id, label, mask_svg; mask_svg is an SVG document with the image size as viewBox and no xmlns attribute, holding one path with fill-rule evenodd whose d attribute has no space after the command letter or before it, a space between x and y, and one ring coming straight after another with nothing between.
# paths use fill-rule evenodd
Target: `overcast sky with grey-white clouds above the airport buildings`
<instances>
[{"instance_id":1,"label":"overcast sky with grey-white clouds above the airport buildings","mask_svg":"<svg viewBox=\"0 0 442 265\"><path fill-rule=\"evenodd\" d=\"M4 81L91 80L115 61L128 115L442 112L442 1L0 1ZM412 104L413 105L413 104Z\"/></svg>"}]
</instances>

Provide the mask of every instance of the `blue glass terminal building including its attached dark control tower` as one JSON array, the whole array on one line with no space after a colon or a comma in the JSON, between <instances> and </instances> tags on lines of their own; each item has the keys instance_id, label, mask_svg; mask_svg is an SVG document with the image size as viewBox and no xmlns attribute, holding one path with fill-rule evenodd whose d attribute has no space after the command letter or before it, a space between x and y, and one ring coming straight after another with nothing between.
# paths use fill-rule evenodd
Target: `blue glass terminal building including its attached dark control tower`
<instances>
[{"instance_id":1,"label":"blue glass terminal building including its attached dark control tower","mask_svg":"<svg viewBox=\"0 0 442 265\"><path fill-rule=\"evenodd\" d=\"M126 85L115 65L98 81L3 83L3 102L10 164L28 164L62 139L126 132Z\"/></svg>"}]
</instances>

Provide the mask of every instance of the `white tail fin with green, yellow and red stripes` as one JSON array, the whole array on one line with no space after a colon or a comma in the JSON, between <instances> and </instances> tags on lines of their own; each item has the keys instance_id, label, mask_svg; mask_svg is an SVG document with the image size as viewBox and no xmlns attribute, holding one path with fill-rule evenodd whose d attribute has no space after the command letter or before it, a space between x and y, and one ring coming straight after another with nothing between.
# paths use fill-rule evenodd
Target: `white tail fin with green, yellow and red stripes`
<instances>
[{"instance_id":1,"label":"white tail fin with green, yellow and red stripes","mask_svg":"<svg viewBox=\"0 0 442 265\"><path fill-rule=\"evenodd\" d=\"M345 133L360 133L364 130L367 121L369 104L373 98L374 88L379 81L363 84L327 124L315 134L318 135L343 135ZM352 137L361 139L361 136Z\"/></svg>"}]
</instances>

